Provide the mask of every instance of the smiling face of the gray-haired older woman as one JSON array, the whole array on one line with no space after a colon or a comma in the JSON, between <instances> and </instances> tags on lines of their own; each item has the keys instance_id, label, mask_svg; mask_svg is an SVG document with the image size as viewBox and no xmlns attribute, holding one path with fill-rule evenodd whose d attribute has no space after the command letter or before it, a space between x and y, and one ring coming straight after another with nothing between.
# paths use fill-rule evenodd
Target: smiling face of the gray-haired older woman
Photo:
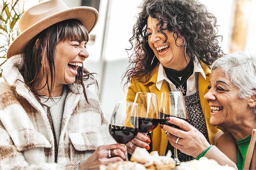
<instances>
[{"instance_id":1,"label":"smiling face of the gray-haired older woman","mask_svg":"<svg viewBox=\"0 0 256 170\"><path fill-rule=\"evenodd\" d=\"M248 99L239 98L238 87L220 68L213 70L208 89L204 99L211 107L211 125L234 127L238 122L245 120L245 116L248 116L246 113L251 112Z\"/></svg>"}]
</instances>

